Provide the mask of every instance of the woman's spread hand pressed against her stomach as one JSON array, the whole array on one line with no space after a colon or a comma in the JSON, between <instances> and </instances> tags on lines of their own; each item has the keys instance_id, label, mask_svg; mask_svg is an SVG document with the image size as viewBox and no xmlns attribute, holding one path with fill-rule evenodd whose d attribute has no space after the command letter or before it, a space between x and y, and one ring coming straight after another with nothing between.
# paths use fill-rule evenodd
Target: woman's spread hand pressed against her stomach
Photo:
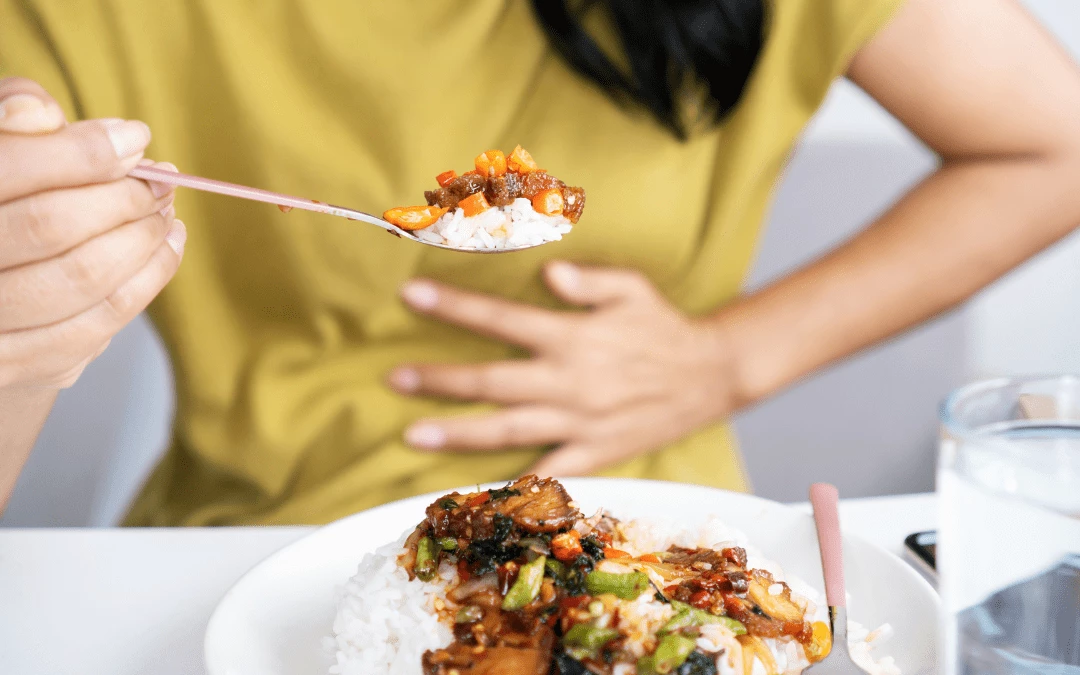
<instances>
[{"instance_id":1,"label":"woman's spread hand pressed against her stomach","mask_svg":"<svg viewBox=\"0 0 1080 675\"><path fill-rule=\"evenodd\" d=\"M731 359L715 323L685 316L635 271L554 262L544 279L586 311L550 311L424 280L405 286L413 309L532 354L395 369L390 383L401 393L503 406L421 420L405 433L410 445L448 453L554 445L534 470L580 475L659 449L733 409Z\"/></svg>"}]
</instances>

